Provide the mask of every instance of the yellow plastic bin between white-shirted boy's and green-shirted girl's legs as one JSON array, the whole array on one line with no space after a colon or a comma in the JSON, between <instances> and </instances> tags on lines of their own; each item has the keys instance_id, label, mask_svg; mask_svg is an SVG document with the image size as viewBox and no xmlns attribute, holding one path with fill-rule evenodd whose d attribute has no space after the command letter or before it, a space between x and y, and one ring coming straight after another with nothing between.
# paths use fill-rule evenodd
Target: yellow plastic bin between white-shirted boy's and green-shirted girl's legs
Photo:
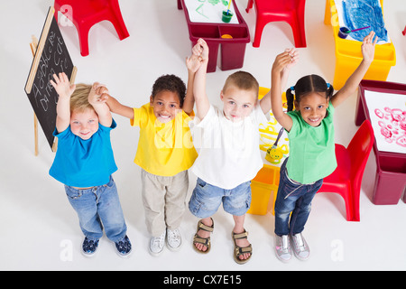
<instances>
[{"instance_id":1,"label":"yellow plastic bin between white-shirted boy's and green-shirted girl's legs","mask_svg":"<svg viewBox=\"0 0 406 289\"><path fill-rule=\"evenodd\" d=\"M280 168L273 165L264 164L263 168L251 181L251 207L247 211L249 214L266 215L271 194L274 196L278 191ZM274 201L274 198L272 198ZM272 206L273 206L272 201Z\"/></svg>"}]
</instances>

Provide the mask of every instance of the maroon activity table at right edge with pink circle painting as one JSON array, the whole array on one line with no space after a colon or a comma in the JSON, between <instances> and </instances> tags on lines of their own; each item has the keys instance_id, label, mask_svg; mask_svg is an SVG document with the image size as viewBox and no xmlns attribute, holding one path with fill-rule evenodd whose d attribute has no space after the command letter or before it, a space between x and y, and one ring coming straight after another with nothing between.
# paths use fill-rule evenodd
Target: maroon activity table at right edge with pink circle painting
<instances>
[{"instance_id":1,"label":"maroon activity table at right edge with pink circle painting","mask_svg":"<svg viewBox=\"0 0 406 289\"><path fill-rule=\"evenodd\" d=\"M383 109L368 107L367 98L372 99L372 93L369 91L382 93L382 96L377 98L380 103L376 100L375 103ZM365 97L366 94L368 95ZM401 107L391 110L394 107L390 107L388 97L401 98ZM371 105L371 100L369 104ZM394 115L391 111L396 111L397 114ZM397 204L406 187L406 84L362 80L358 89L355 125L360 126L365 118L371 121L375 135L376 175L373 203ZM406 196L403 196L403 201L406 202Z\"/></svg>"}]
</instances>

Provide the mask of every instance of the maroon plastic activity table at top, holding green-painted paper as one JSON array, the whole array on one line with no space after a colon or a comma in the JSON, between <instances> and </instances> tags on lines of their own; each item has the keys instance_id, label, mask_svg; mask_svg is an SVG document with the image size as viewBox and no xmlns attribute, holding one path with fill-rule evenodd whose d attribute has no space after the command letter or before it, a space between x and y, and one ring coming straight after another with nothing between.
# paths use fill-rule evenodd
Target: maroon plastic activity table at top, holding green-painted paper
<instances>
[{"instance_id":1,"label":"maroon plastic activity table at top, holding green-painted paper","mask_svg":"<svg viewBox=\"0 0 406 289\"><path fill-rule=\"evenodd\" d=\"M178 9L182 9L185 13L186 22L188 23L189 39L192 46L198 42L199 38L203 38L208 43L208 72L214 72L217 69L217 54L220 49L220 70L235 70L240 69L244 65L245 46L250 42L250 33L244 18L238 11L235 1L232 0L232 7L235 16L230 23L222 23L201 17L201 22L193 22L190 16L195 14L204 14L204 9L212 8L209 1L198 1L198 9L190 8L187 3L192 3L192 0L178 0ZM207 5L207 6L205 6ZM217 9L223 9L220 4L216 5ZM190 11L189 11L189 9ZM221 14L221 11L219 11ZM203 22L204 21L204 22ZM231 38L230 38L231 37Z\"/></svg>"}]
</instances>

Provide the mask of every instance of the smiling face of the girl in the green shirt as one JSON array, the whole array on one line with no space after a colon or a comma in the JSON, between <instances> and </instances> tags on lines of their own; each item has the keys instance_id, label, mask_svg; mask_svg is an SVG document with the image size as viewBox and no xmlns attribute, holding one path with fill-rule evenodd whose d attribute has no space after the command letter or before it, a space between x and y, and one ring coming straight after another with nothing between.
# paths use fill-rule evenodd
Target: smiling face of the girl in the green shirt
<instances>
[{"instance_id":1,"label":"smiling face of the girl in the green shirt","mask_svg":"<svg viewBox=\"0 0 406 289\"><path fill-rule=\"evenodd\" d=\"M309 126L319 126L326 117L328 99L316 92L312 92L300 99L300 103L295 101L295 107L300 111L301 117Z\"/></svg>"}]
</instances>

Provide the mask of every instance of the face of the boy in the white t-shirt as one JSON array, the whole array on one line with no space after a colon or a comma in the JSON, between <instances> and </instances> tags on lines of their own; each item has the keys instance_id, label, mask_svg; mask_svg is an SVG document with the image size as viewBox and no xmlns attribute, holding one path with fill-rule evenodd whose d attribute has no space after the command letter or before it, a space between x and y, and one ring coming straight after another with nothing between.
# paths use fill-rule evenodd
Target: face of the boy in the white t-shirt
<instances>
[{"instance_id":1,"label":"face of the boy in the white t-shirt","mask_svg":"<svg viewBox=\"0 0 406 289\"><path fill-rule=\"evenodd\" d=\"M227 119L232 122L242 121L253 111L257 96L253 90L237 89L229 86L226 91L221 91L220 98L223 101L223 112Z\"/></svg>"}]
</instances>

